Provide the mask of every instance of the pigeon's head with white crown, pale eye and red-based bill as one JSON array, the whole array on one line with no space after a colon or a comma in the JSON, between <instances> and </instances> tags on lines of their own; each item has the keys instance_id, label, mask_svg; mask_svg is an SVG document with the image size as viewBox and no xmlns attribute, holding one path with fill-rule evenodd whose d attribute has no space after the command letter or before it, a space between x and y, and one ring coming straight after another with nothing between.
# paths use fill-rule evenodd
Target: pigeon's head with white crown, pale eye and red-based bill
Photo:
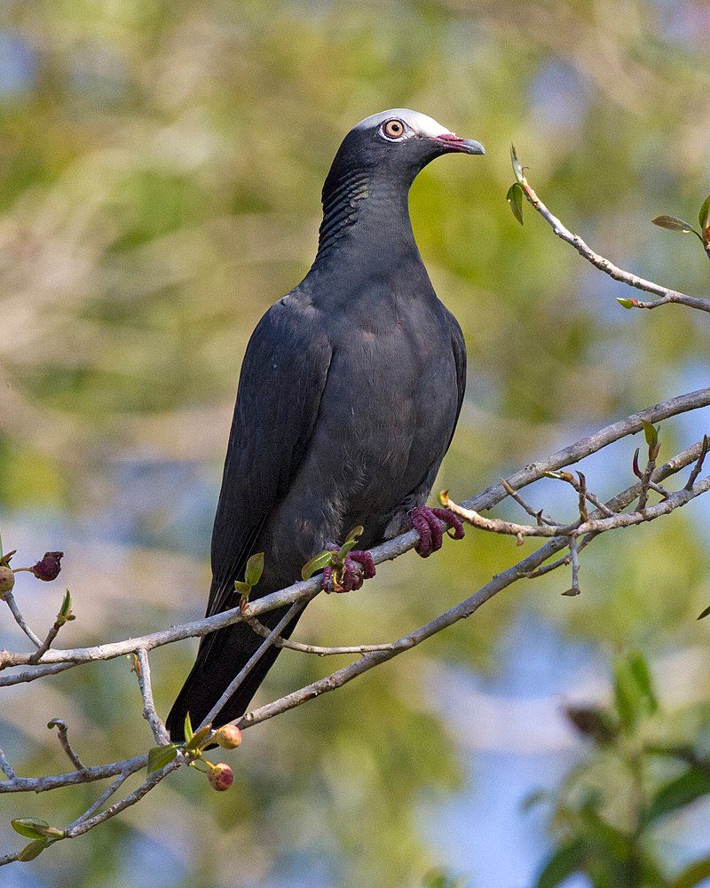
<instances>
[{"instance_id":1,"label":"pigeon's head with white crown, pale eye and red-based bill","mask_svg":"<svg viewBox=\"0 0 710 888\"><path fill-rule=\"evenodd\" d=\"M407 108L391 108L366 117L347 134L333 163L334 171L377 172L411 185L436 157L485 155L474 139L461 139L432 117Z\"/></svg>"}]
</instances>

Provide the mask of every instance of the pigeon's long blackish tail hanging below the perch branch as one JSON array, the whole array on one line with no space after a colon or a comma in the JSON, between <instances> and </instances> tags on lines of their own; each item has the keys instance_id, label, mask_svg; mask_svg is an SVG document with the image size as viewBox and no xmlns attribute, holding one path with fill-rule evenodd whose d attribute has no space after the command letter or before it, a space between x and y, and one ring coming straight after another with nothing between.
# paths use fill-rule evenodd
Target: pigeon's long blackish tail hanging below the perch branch
<instances>
[{"instance_id":1,"label":"pigeon's long blackish tail hanging below the perch branch","mask_svg":"<svg viewBox=\"0 0 710 888\"><path fill-rule=\"evenodd\" d=\"M263 614L261 622L264 623L264 626L272 629L287 610L288 607L280 607L278 610ZM303 611L296 614L294 619L282 630L282 638L290 636L296 628L296 622L301 614ZM252 654L256 653L263 641L264 638L244 622L217 630L213 636L202 639L193 669L177 695L177 700L173 704L166 722L170 738L173 741L183 740L185 715L188 712L193 727L200 725L202 719L219 700L242 666L248 662ZM251 698L266 678L266 673L272 668L279 653L280 648L272 646L256 662L247 678L217 714L213 721L216 727L225 725L246 712Z\"/></svg>"}]
</instances>

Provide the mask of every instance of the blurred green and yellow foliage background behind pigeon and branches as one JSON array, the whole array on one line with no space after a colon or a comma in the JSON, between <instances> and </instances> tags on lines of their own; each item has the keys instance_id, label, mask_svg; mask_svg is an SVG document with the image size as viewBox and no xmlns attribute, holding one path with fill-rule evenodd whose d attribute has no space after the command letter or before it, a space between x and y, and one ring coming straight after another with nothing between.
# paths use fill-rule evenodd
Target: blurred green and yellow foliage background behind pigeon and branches
<instances>
[{"instance_id":1,"label":"blurred green and yellow foliage background behind pigeon and branches","mask_svg":"<svg viewBox=\"0 0 710 888\"><path fill-rule=\"evenodd\" d=\"M704 315L619 308L625 290L539 218L517 226L505 194L514 141L550 209L597 250L706 291L696 239L648 220L693 219L710 190L709 27L703 0L6 0L0 519L16 560L66 551L78 619L63 643L202 613L241 355L307 271L328 165L375 111L422 110L488 152L433 164L411 199L422 255L469 345L438 486L467 496L706 385ZM661 456L704 431L702 415L666 424ZM588 461L597 494L627 485L634 448ZM552 483L531 496L574 512ZM579 598L559 597L563 575L518 584L426 646L249 730L224 796L180 772L121 819L4 870L3 884L527 888L579 837L578 821L559 818L564 778L607 753L588 748L564 706L611 705L615 655L633 646L650 663L664 741L706 736L710 644L695 617L710 598L709 531L699 500L605 536L583 556ZM394 638L519 556L469 532L436 559L407 556L363 591L315 602L298 637ZM20 577L21 606L48 626L60 581ZM23 648L7 619L0 645ZM163 713L192 656L188 643L154 655ZM334 665L285 652L259 699ZM87 763L137 754L151 741L134 683L114 661L12 688L0 743L20 773L63 769L45 728L56 716ZM657 782L677 771L653 766L671 769ZM579 810L591 798L626 829L611 804L625 791L618 769L603 762L594 775ZM523 805L536 789L551 806ZM17 846L11 817L61 824L95 793L3 797L3 849ZM710 850L708 813L700 801L644 832L666 876Z\"/></svg>"}]
</instances>

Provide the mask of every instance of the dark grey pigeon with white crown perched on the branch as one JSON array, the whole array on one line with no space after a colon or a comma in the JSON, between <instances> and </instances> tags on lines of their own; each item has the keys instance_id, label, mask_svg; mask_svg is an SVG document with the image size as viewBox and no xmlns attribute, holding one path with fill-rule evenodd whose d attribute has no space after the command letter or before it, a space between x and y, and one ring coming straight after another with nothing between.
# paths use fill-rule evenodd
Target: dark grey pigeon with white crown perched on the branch
<instances>
[{"instance_id":1,"label":"dark grey pigeon with white crown perched on the branch","mask_svg":"<svg viewBox=\"0 0 710 888\"><path fill-rule=\"evenodd\" d=\"M235 581L264 552L252 599L301 578L320 551L361 527L358 549L326 567L326 591L375 575L369 549L414 528L428 557L461 522L425 503L454 435L466 382L461 328L438 300L414 241L408 194L435 158L483 155L427 115L394 108L343 139L322 192L318 252L305 278L249 340L211 544L207 615L240 604ZM273 629L288 608L262 614ZM288 638L292 619L281 630ZM201 639L170 711L174 741L215 706L262 645L245 622ZM272 667L271 646L213 720L239 718Z\"/></svg>"}]
</instances>

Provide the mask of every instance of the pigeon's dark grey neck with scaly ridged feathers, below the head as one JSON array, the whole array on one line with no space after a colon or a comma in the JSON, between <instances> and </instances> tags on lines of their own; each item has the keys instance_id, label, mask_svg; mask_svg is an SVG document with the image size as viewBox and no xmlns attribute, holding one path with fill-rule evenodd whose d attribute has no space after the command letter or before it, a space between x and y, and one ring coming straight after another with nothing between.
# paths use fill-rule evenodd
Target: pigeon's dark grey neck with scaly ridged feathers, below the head
<instances>
[{"instance_id":1,"label":"pigeon's dark grey neck with scaly ridged feathers, below the head","mask_svg":"<svg viewBox=\"0 0 710 888\"><path fill-rule=\"evenodd\" d=\"M419 260L409 218L409 182L382 181L361 170L329 176L323 188L316 262L367 253L370 266Z\"/></svg>"}]
</instances>

